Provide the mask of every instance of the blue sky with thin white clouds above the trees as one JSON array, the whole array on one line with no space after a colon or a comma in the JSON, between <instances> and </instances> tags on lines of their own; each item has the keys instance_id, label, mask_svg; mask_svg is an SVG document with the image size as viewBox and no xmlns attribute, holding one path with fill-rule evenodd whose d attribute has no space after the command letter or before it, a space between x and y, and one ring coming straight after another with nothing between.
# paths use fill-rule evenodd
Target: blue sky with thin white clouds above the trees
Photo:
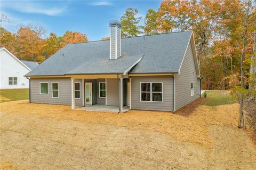
<instances>
[{"instance_id":1,"label":"blue sky with thin white clouds above the trees","mask_svg":"<svg viewBox=\"0 0 256 170\"><path fill-rule=\"evenodd\" d=\"M1 13L10 20L4 27L15 33L17 25L39 25L62 36L67 30L86 34L97 41L110 34L109 21L119 20L128 7L137 8L141 25L148 9L157 10L161 1L3 1Z\"/></svg>"}]
</instances>

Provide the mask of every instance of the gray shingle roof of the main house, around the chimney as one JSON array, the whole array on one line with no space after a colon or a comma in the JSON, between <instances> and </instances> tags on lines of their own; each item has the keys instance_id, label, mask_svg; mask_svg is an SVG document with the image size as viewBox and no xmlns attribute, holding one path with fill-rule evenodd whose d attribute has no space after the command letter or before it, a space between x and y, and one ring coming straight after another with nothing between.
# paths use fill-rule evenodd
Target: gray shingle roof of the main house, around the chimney
<instances>
[{"instance_id":1,"label":"gray shingle roof of the main house, around the chimney","mask_svg":"<svg viewBox=\"0 0 256 170\"><path fill-rule=\"evenodd\" d=\"M182 31L122 38L122 56L116 60L109 60L109 40L68 44L26 76L119 74L131 68L133 74L178 73L191 35Z\"/></svg>"}]
</instances>

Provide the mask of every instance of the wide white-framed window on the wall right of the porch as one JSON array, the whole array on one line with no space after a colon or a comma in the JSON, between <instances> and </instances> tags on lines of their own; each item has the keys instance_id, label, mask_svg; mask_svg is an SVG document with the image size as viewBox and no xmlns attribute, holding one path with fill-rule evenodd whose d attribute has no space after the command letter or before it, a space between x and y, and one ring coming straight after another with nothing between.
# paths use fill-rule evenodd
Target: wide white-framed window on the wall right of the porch
<instances>
[{"instance_id":1,"label":"wide white-framed window on the wall right of the porch","mask_svg":"<svg viewBox=\"0 0 256 170\"><path fill-rule=\"evenodd\" d=\"M140 101L163 102L163 83L140 83Z\"/></svg>"}]
</instances>

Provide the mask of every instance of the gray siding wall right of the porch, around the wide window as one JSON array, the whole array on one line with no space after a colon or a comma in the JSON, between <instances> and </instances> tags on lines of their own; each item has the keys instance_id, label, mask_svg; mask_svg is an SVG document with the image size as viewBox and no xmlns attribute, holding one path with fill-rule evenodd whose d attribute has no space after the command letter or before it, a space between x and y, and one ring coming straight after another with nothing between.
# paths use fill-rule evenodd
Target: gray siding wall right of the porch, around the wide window
<instances>
[{"instance_id":1,"label":"gray siding wall right of the porch, around the wide window","mask_svg":"<svg viewBox=\"0 0 256 170\"><path fill-rule=\"evenodd\" d=\"M131 108L138 110L172 111L172 76L135 76L131 77ZM163 102L141 102L140 82L163 82Z\"/></svg>"}]
</instances>

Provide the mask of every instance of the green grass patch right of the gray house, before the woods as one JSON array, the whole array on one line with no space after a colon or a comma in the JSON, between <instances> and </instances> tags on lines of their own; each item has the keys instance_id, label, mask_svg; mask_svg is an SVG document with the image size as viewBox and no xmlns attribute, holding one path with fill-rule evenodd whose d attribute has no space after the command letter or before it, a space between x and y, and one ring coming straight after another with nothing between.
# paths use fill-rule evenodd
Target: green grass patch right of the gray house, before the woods
<instances>
[{"instance_id":1,"label":"green grass patch right of the gray house, before the woods","mask_svg":"<svg viewBox=\"0 0 256 170\"><path fill-rule=\"evenodd\" d=\"M235 97L228 91L207 91L206 93L207 97L202 102L202 104L206 106L219 106L222 104L232 104L237 102ZM202 95L202 98L203 96L204 94Z\"/></svg>"}]
</instances>

